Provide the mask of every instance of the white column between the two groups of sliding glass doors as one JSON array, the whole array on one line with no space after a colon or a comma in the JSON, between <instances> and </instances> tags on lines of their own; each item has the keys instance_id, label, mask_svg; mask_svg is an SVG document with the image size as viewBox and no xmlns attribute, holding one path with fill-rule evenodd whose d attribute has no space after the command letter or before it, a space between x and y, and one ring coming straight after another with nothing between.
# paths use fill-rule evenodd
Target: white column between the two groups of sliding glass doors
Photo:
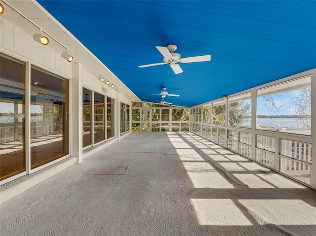
<instances>
[{"instance_id":1,"label":"white column between the two groups of sliding glass doors","mask_svg":"<svg viewBox=\"0 0 316 236\"><path fill-rule=\"evenodd\" d=\"M70 155L76 156L76 164L82 162L82 65L74 63L74 79L70 96Z\"/></svg>"}]
</instances>

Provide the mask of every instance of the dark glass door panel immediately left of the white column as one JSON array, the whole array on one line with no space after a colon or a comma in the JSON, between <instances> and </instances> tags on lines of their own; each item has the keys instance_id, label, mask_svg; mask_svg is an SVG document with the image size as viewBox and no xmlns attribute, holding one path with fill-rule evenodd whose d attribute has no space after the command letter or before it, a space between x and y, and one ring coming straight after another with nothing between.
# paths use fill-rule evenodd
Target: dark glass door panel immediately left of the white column
<instances>
[{"instance_id":1,"label":"dark glass door panel immediately left of the white column","mask_svg":"<svg viewBox=\"0 0 316 236\"><path fill-rule=\"evenodd\" d=\"M69 153L67 91L68 80L31 67L31 169Z\"/></svg>"}]
</instances>

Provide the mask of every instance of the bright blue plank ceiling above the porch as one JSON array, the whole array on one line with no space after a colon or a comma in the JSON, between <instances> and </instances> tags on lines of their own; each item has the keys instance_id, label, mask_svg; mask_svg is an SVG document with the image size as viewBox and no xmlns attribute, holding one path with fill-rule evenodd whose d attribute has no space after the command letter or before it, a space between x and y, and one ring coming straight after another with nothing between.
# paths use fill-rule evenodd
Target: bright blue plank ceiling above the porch
<instances>
[{"instance_id":1,"label":"bright blue plank ceiling above the porch","mask_svg":"<svg viewBox=\"0 0 316 236\"><path fill-rule=\"evenodd\" d=\"M194 106L316 67L316 1L38 0L142 101ZM155 46L176 44L175 74Z\"/></svg>"}]
</instances>

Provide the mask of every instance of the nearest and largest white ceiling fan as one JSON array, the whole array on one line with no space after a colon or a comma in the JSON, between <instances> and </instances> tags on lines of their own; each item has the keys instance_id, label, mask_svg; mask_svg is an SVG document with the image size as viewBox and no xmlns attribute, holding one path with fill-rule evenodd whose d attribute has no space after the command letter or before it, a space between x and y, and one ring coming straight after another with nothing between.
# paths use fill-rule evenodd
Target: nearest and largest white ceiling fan
<instances>
[{"instance_id":1,"label":"nearest and largest white ceiling fan","mask_svg":"<svg viewBox=\"0 0 316 236\"><path fill-rule=\"evenodd\" d=\"M181 63L208 62L211 60L211 55L181 58L181 55L179 53L174 52L177 49L177 46L174 44L169 44L167 47L156 46L156 48L162 54L164 62L148 64L148 65L143 65L143 66L138 66L138 67L143 68L143 67L153 67L153 66L169 64L169 66L172 68L174 73L179 74L179 73L182 73L183 70L177 64L178 62L181 62Z\"/></svg>"}]
</instances>

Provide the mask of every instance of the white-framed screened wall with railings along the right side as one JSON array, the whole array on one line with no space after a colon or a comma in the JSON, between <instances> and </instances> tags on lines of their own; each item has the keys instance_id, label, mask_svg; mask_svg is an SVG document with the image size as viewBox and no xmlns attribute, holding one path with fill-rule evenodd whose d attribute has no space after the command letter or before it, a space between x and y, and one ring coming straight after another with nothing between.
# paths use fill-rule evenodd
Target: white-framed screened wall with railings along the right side
<instances>
[{"instance_id":1,"label":"white-framed screened wall with railings along the right side","mask_svg":"<svg viewBox=\"0 0 316 236\"><path fill-rule=\"evenodd\" d=\"M294 76L192 107L190 130L311 185L312 88L312 75Z\"/></svg>"}]
</instances>

